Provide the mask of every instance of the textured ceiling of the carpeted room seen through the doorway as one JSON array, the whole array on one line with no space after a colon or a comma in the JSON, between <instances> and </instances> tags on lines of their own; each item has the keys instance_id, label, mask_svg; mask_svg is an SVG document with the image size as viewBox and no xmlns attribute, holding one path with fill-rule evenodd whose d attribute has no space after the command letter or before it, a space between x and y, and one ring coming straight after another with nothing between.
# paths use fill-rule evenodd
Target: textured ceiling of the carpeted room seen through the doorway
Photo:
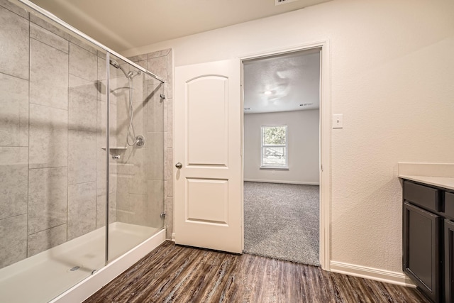
<instances>
[{"instance_id":1,"label":"textured ceiling of the carpeted room seen through the doorway","mask_svg":"<svg viewBox=\"0 0 454 303\"><path fill-rule=\"evenodd\" d=\"M320 50L243 61L244 113L320 107Z\"/></svg>"}]
</instances>

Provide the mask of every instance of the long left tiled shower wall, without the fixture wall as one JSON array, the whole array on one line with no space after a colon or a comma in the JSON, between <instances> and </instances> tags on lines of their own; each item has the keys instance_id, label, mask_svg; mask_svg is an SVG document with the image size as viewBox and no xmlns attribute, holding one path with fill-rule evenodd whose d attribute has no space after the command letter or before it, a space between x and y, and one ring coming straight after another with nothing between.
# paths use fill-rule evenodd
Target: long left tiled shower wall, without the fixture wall
<instances>
[{"instance_id":1,"label":"long left tiled shower wall, without the fixture wall","mask_svg":"<svg viewBox=\"0 0 454 303\"><path fill-rule=\"evenodd\" d=\"M105 224L106 60L6 0L0 43L3 268ZM115 98L111 117L114 125Z\"/></svg>"}]
</instances>

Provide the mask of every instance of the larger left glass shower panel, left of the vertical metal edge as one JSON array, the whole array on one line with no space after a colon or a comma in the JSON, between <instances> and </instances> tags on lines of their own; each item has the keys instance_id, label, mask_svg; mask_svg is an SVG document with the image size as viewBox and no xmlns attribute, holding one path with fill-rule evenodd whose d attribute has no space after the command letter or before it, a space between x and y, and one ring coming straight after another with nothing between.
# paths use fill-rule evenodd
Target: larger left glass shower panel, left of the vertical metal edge
<instances>
[{"instance_id":1,"label":"larger left glass shower panel, left of the vertical metal edge","mask_svg":"<svg viewBox=\"0 0 454 303\"><path fill-rule=\"evenodd\" d=\"M9 1L0 44L0 302L48 302L105 263L106 53Z\"/></svg>"}]
</instances>

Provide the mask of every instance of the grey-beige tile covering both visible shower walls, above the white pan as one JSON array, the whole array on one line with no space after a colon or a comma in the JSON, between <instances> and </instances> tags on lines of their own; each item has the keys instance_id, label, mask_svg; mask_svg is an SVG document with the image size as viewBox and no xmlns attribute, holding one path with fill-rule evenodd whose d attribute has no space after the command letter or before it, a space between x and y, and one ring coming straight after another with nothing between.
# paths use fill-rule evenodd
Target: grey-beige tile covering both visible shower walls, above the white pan
<instances>
[{"instance_id":1,"label":"grey-beige tile covering both visible shower walls, above the white pan","mask_svg":"<svg viewBox=\"0 0 454 303\"><path fill-rule=\"evenodd\" d=\"M105 224L106 60L7 0L0 0L0 43L3 268ZM146 143L109 164L109 222L167 226L171 238L172 50L133 61L166 83L134 78L135 133ZM125 146L128 81L110 70L109 141Z\"/></svg>"}]
</instances>

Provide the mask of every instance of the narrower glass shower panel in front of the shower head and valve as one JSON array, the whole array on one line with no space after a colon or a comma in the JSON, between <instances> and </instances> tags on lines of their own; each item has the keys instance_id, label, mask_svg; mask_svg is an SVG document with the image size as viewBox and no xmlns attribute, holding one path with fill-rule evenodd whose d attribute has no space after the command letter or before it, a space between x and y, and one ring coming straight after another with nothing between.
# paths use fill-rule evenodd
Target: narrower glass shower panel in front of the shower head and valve
<instances>
[{"instance_id":1,"label":"narrower glass shower panel in front of the shower head and valve","mask_svg":"<svg viewBox=\"0 0 454 303\"><path fill-rule=\"evenodd\" d=\"M160 82L111 55L109 260L153 236L164 226L164 128ZM147 68L147 61L138 62ZM114 114L114 112L116 114Z\"/></svg>"}]
</instances>

